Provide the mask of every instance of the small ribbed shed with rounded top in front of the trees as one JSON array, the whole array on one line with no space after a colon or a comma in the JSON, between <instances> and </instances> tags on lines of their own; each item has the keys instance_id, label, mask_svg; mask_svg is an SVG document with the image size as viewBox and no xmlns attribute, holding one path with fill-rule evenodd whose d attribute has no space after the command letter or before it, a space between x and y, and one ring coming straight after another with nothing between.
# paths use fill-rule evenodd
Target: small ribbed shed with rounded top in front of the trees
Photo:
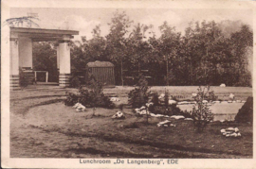
<instances>
[{"instance_id":1,"label":"small ribbed shed with rounded top in front of the trees","mask_svg":"<svg viewBox=\"0 0 256 169\"><path fill-rule=\"evenodd\" d=\"M114 64L109 61L88 62L86 65L88 74L92 74L96 80L107 87L115 87Z\"/></svg>"}]
</instances>

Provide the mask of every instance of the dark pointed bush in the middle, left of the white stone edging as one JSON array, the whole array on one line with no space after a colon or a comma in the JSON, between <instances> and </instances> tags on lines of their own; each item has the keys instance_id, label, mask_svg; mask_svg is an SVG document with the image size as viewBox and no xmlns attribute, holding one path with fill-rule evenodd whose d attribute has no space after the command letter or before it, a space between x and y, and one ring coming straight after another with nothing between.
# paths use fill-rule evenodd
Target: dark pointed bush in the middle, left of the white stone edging
<instances>
[{"instance_id":1,"label":"dark pointed bush in the middle, left of the white stone edging","mask_svg":"<svg viewBox=\"0 0 256 169\"><path fill-rule=\"evenodd\" d=\"M137 87L128 93L129 105L133 108L140 108L149 100L148 82L144 76L139 76Z\"/></svg>"}]
</instances>

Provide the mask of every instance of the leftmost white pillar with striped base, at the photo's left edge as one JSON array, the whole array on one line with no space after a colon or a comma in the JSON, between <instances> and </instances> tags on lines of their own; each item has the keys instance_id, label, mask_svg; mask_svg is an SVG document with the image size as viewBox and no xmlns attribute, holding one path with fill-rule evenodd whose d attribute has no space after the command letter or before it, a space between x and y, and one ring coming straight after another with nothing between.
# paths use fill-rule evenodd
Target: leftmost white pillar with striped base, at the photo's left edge
<instances>
[{"instance_id":1,"label":"leftmost white pillar with striped base, at the photo's left edge","mask_svg":"<svg viewBox=\"0 0 256 169\"><path fill-rule=\"evenodd\" d=\"M20 76L19 76L19 41L18 36L15 34L10 35L9 39L9 61L10 61L10 85L11 91L20 89Z\"/></svg>"}]
</instances>

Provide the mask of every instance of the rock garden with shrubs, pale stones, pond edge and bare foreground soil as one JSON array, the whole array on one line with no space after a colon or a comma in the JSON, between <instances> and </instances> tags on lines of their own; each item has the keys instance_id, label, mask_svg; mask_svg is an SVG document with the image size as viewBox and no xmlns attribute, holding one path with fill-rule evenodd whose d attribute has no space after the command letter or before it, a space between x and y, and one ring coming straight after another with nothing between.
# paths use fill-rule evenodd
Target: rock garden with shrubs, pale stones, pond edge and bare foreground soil
<instances>
[{"instance_id":1,"label":"rock garden with shrubs, pale stones, pond edge and bare foreground soil","mask_svg":"<svg viewBox=\"0 0 256 169\"><path fill-rule=\"evenodd\" d=\"M155 92L141 76L125 97L93 78L79 89L12 93L10 157L252 158L252 97L224 100L196 88L184 100ZM218 105L235 117L214 120Z\"/></svg>"}]
</instances>

